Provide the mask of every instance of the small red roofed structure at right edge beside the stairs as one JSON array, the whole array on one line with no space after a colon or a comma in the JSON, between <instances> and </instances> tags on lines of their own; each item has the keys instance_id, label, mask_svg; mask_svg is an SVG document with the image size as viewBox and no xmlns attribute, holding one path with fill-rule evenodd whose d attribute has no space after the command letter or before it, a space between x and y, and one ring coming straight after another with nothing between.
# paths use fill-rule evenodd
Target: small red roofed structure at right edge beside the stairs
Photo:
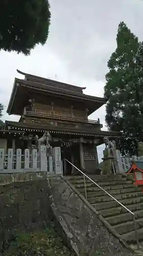
<instances>
[{"instance_id":1,"label":"small red roofed structure at right edge beside the stairs","mask_svg":"<svg viewBox=\"0 0 143 256\"><path fill-rule=\"evenodd\" d=\"M126 174L133 174L134 185L143 185L143 161L134 161Z\"/></svg>"}]
</instances>

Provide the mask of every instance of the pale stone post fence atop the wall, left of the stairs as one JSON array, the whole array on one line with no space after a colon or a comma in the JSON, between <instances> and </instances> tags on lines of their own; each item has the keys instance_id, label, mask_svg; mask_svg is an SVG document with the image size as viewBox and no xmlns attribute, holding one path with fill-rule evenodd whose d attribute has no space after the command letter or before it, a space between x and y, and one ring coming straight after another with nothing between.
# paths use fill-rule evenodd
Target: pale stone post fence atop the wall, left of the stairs
<instances>
[{"instance_id":1,"label":"pale stone post fence atop the wall, left of the stairs","mask_svg":"<svg viewBox=\"0 0 143 256\"><path fill-rule=\"evenodd\" d=\"M54 147L52 155L47 155L46 146L41 145L39 150L24 150L17 148L16 154L9 148L5 154L4 148L0 148L0 173L47 171L52 174L62 174L61 148Z\"/></svg>"}]
</instances>

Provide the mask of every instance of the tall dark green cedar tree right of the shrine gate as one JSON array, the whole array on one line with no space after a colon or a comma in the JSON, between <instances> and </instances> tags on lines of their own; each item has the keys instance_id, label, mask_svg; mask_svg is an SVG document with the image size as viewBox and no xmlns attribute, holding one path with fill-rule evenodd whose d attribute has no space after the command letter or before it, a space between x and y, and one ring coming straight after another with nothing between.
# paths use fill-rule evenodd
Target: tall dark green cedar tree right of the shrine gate
<instances>
[{"instance_id":1,"label":"tall dark green cedar tree right of the shrine gate","mask_svg":"<svg viewBox=\"0 0 143 256\"><path fill-rule=\"evenodd\" d=\"M143 141L142 44L124 22L119 24L117 49L108 60L104 96L108 98L105 121L112 131L121 132L122 154L137 154Z\"/></svg>"}]
</instances>

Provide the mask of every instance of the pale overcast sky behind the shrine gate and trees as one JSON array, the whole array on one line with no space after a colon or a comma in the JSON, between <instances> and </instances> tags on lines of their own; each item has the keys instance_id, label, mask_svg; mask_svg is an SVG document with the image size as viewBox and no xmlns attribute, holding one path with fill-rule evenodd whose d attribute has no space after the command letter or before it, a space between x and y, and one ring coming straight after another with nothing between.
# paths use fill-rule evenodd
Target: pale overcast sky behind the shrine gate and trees
<instances>
[{"instance_id":1,"label":"pale overcast sky behind the shrine gate and trees","mask_svg":"<svg viewBox=\"0 0 143 256\"><path fill-rule=\"evenodd\" d=\"M107 61L116 49L118 24L124 20L139 40L143 40L141 0L49 0L51 26L45 46L31 55L0 52L0 102L6 108L19 69L46 78L87 87L84 93L103 96ZM56 76L55 76L56 75ZM104 124L105 106L90 116ZM3 121L18 120L8 116ZM106 129L104 127L104 129ZM101 159L104 146L98 153Z\"/></svg>"}]
</instances>

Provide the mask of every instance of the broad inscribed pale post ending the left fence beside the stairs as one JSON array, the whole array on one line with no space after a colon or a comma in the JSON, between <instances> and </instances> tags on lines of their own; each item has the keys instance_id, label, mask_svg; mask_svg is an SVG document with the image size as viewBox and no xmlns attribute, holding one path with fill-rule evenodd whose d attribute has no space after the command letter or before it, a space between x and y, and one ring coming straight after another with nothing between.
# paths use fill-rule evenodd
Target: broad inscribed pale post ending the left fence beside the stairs
<instances>
[{"instance_id":1,"label":"broad inscribed pale post ending the left fence beside the stairs","mask_svg":"<svg viewBox=\"0 0 143 256\"><path fill-rule=\"evenodd\" d=\"M62 174L61 147L53 148L53 163L55 166L55 174Z\"/></svg>"}]
</instances>

